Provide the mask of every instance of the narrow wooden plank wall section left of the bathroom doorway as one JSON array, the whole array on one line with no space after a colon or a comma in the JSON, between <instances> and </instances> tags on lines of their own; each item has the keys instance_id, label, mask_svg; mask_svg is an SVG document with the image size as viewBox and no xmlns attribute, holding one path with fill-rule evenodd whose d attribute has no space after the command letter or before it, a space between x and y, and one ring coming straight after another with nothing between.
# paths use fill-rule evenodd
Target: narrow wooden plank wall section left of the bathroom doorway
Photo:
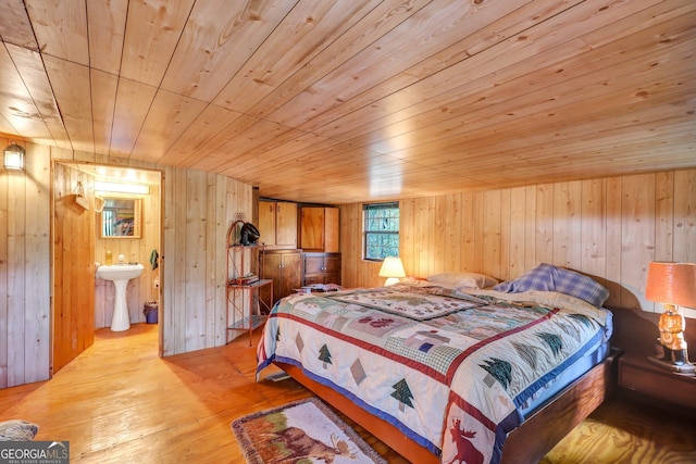
<instances>
[{"instance_id":1,"label":"narrow wooden plank wall section left of the bathroom doorway","mask_svg":"<svg viewBox=\"0 0 696 464\"><path fill-rule=\"evenodd\" d=\"M24 171L0 165L0 388L49 374L51 166L36 151Z\"/></svg>"}]
</instances>

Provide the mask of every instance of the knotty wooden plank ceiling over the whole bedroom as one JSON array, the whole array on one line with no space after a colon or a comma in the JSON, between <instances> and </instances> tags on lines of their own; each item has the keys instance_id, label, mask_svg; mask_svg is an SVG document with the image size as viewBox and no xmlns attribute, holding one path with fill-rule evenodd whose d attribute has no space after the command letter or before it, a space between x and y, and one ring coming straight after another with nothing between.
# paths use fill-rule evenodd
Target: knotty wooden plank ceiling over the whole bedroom
<instances>
[{"instance_id":1,"label":"knotty wooden plank ceiling over the whole bedroom","mask_svg":"<svg viewBox=\"0 0 696 464\"><path fill-rule=\"evenodd\" d=\"M693 167L694 25L693 0L3 0L0 133L326 203Z\"/></svg>"}]
</instances>

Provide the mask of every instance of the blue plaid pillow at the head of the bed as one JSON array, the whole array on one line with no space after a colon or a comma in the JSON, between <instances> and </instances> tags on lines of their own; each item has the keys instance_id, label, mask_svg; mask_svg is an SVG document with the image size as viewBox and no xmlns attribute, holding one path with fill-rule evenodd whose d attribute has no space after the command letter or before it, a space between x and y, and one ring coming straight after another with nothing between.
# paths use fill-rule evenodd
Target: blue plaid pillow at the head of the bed
<instances>
[{"instance_id":1,"label":"blue plaid pillow at the head of the bed","mask_svg":"<svg viewBox=\"0 0 696 464\"><path fill-rule=\"evenodd\" d=\"M514 280L498 284L493 289L506 293L530 290L558 291L585 300L597 308L600 308L609 298L609 290L592 278L546 263L539 264Z\"/></svg>"}]
</instances>

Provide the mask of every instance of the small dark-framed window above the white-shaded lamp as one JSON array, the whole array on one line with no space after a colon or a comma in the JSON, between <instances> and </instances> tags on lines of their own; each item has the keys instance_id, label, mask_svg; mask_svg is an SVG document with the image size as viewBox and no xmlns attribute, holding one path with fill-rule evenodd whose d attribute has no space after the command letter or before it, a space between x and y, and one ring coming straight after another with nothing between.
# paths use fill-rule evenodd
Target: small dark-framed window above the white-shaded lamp
<instances>
[{"instance_id":1,"label":"small dark-framed window above the white-shaded lamp","mask_svg":"<svg viewBox=\"0 0 696 464\"><path fill-rule=\"evenodd\" d=\"M399 255L399 203L373 203L362 206L364 215L363 255L382 261Z\"/></svg>"}]
</instances>

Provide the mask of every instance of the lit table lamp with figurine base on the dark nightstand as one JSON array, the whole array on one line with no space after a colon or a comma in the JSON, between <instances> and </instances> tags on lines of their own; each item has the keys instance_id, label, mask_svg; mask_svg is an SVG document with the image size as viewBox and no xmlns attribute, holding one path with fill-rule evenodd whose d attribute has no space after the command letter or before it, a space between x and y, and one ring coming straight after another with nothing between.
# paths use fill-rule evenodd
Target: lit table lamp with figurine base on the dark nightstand
<instances>
[{"instance_id":1,"label":"lit table lamp with figurine base on the dark nightstand","mask_svg":"<svg viewBox=\"0 0 696 464\"><path fill-rule=\"evenodd\" d=\"M648 267L645 298L664 305L658 328L662 358L649 360L682 374L694 374L684 340L686 321L676 306L696 308L696 264L654 261Z\"/></svg>"}]
</instances>

